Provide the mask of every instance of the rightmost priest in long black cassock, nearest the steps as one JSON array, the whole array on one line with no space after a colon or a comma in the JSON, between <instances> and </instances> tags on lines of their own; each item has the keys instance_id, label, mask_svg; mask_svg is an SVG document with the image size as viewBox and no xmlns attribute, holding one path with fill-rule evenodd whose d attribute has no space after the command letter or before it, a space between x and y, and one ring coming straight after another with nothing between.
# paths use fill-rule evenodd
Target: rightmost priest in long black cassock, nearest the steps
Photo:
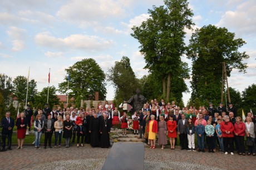
<instances>
[{"instance_id":1,"label":"rightmost priest in long black cassock, nearest the steps","mask_svg":"<svg viewBox=\"0 0 256 170\"><path fill-rule=\"evenodd\" d=\"M103 115L103 119L100 121L100 133L101 133L101 140L100 140L100 147L108 148L110 147L110 120L107 119L107 114Z\"/></svg>"}]
</instances>

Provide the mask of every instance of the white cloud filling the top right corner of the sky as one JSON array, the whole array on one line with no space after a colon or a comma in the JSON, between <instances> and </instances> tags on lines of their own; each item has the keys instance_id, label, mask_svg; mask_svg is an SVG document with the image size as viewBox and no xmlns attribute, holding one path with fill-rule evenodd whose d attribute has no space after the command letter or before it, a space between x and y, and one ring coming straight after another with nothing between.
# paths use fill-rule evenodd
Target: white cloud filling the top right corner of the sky
<instances>
[{"instance_id":1,"label":"white cloud filling the top right corner of the sky","mask_svg":"<svg viewBox=\"0 0 256 170\"><path fill-rule=\"evenodd\" d=\"M256 29L256 3L246 1L239 4L234 11L227 11L216 24L218 27L232 28L239 35L254 34Z\"/></svg>"}]
</instances>

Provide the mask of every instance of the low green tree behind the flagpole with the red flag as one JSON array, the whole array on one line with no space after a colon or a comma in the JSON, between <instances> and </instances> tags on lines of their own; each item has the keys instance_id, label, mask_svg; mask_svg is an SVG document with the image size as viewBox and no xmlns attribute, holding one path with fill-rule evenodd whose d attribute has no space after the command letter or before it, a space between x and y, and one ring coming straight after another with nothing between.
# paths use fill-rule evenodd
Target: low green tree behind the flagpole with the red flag
<instances>
[{"instance_id":1,"label":"low green tree behind the flagpole with the red flag","mask_svg":"<svg viewBox=\"0 0 256 170\"><path fill-rule=\"evenodd\" d=\"M49 97L48 104L52 108L54 105L58 105L60 99L56 94L57 90L55 86L49 87ZM35 106L40 106L41 104L45 105L47 103L48 87L44 87L38 95L35 96ZM41 109L43 109L41 107Z\"/></svg>"}]
</instances>

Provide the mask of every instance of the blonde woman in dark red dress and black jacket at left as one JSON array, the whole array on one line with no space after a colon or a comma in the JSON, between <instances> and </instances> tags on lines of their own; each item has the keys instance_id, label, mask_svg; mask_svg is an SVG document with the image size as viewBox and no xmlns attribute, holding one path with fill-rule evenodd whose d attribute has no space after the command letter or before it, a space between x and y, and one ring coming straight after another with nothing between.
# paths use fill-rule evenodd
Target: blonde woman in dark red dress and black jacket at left
<instances>
[{"instance_id":1,"label":"blonde woman in dark red dress and black jacket at left","mask_svg":"<svg viewBox=\"0 0 256 170\"><path fill-rule=\"evenodd\" d=\"M19 114L19 118L16 121L17 140L18 140L17 149L22 149L24 138L26 136L27 125L28 125L28 121L25 118L25 114L24 114L24 112L21 112L21 114Z\"/></svg>"}]
</instances>

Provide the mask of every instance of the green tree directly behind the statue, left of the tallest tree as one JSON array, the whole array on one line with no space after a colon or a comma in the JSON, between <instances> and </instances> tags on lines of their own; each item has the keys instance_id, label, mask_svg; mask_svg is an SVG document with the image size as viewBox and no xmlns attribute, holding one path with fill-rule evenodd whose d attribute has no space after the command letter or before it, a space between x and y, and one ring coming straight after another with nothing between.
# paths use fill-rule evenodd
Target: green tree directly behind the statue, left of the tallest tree
<instances>
[{"instance_id":1,"label":"green tree directly behind the statue, left of the tallest tree","mask_svg":"<svg viewBox=\"0 0 256 170\"><path fill-rule=\"evenodd\" d=\"M131 68L130 59L123 56L121 61L115 61L115 66L108 69L107 80L111 81L115 87L115 99L123 101L130 99L140 88L139 80Z\"/></svg>"}]
</instances>

